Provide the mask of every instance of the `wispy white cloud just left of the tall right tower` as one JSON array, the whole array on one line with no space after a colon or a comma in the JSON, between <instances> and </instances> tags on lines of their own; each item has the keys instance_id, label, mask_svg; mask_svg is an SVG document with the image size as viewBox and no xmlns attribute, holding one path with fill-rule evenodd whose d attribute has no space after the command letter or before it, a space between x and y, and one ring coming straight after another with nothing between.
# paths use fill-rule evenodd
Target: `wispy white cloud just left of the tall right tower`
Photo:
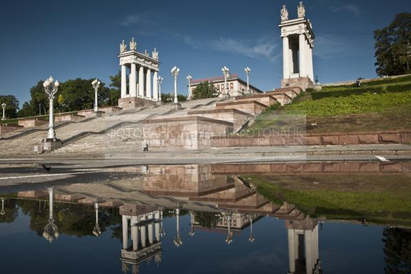
<instances>
[{"instance_id":1,"label":"wispy white cloud just left of the tall right tower","mask_svg":"<svg viewBox=\"0 0 411 274\"><path fill-rule=\"evenodd\" d=\"M256 43L244 42L233 38L220 38L210 43L212 49L227 51L259 60L269 60L275 62L281 53L275 51L277 44L271 39L262 38Z\"/></svg>"}]
</instances>

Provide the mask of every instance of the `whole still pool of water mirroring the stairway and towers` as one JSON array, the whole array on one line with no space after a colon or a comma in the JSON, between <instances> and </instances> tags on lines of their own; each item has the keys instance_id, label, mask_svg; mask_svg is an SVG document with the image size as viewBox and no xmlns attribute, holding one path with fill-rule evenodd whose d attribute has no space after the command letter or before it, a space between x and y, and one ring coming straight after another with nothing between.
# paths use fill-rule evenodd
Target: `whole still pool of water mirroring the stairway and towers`
<instances>
[{"instance_id":1,"label":"whole still pool of water mirroring the stairway and towers","mask_svg":"<svg viewBox=\"0 0 411 274\"><path fill-rule=\"evenodd\" d=\"M151 165L3 194L2 270L410 273L410 166Z\"/></svg>"}]
</instances>

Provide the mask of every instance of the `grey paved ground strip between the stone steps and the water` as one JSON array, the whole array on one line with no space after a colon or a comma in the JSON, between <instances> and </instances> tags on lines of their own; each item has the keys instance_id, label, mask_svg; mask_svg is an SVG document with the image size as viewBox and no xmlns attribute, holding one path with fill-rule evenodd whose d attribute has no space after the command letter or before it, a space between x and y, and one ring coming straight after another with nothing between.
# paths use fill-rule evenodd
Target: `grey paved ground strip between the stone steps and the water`
<instances>
[{"instance_id":1,"label":"grey paved ground strip between the stone steps and the water","mask_svg":"<svg viewBox=\"0 0 411 274\"><path fill-rule=\"evenodd\" d=\"M246 147L205 151L10 155L0 159L0 193L41 186L133 179L147 164L411 160L411 145ZM124 172L127 171L127 172Z\"/></svg>"}]
</instances>

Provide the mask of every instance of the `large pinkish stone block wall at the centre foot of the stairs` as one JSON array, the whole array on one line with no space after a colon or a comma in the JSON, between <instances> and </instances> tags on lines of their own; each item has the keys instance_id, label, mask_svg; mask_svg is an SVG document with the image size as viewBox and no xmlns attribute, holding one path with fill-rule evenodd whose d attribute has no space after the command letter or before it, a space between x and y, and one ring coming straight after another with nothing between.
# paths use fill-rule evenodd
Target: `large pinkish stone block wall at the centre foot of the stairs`
<instances>
[{"instance_id":1,"label":"large pinkish stone block wall at the centre foot of the stairs","mask_svg":"<svg viewBox=\"0 0 411 274\"><path fill-rule=\"evenodd\" d=\"M149 151L208 149L213 136L226 136L232 131L233 123L201 116L143 121L143 140Z\"/></svg>"}]
</instances>

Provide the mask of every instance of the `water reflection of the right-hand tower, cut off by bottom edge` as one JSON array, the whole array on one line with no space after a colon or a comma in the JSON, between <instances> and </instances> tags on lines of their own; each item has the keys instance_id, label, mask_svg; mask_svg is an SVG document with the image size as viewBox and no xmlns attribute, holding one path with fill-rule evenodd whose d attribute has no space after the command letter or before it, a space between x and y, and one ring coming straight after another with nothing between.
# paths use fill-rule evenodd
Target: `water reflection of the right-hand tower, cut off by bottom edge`
<instances>
[{"instance_id":1,"label":"water reflection of the right-hand tower, cut off by bottom edge","mask_svg":"<svg viewBox=\"0 0 411 274\"><path fill-rule=\"evenodd\" d=\"M286 228L288 231L288 273L322 273L319 260L318 221L310 217L301 221L286 221Z\"/></svg>"}]
</instances>

